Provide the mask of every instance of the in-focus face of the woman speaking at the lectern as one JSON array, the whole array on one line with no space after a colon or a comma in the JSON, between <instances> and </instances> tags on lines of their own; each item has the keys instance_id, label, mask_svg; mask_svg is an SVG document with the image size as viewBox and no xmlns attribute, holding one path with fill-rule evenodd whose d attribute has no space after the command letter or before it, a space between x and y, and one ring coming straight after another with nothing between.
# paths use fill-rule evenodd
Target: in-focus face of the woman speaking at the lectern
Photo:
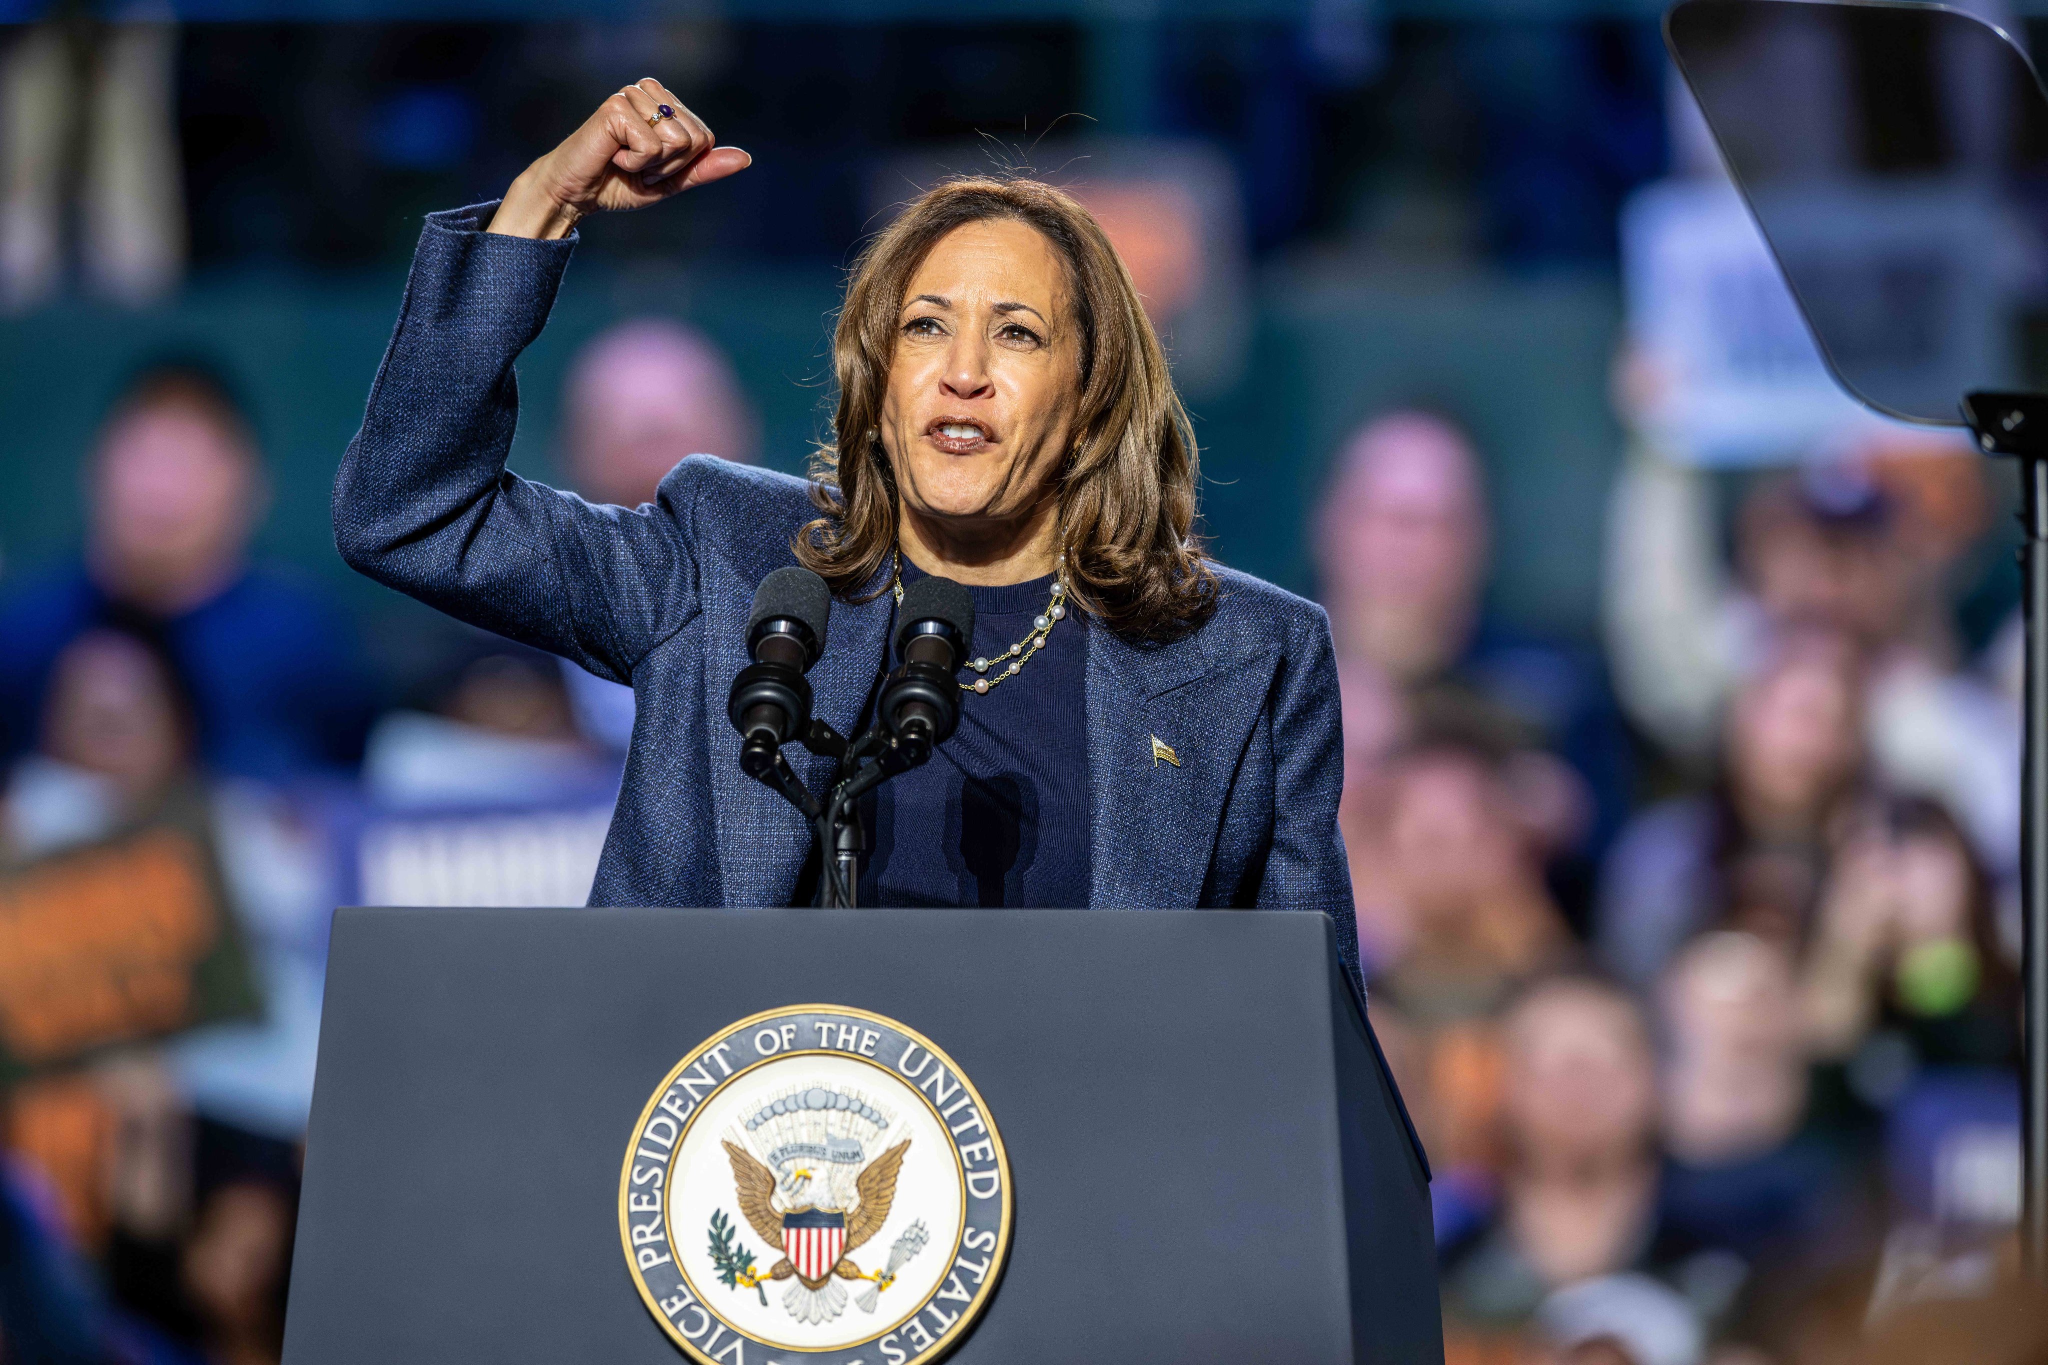
<instances>
[{"instance_id":1,"label":"in-focus face of the woman speaking at the lectern","mask_svg":"<svg viewBox=\"0 0 2048 1365\"><path fill-rule=\"evenodd\" d=\"M897 313L881 438L909 514L965 528L1042 505L1067 454L1079 338L1067 274L1034 227L956 227Z\"/></svg>"}]
</instances>

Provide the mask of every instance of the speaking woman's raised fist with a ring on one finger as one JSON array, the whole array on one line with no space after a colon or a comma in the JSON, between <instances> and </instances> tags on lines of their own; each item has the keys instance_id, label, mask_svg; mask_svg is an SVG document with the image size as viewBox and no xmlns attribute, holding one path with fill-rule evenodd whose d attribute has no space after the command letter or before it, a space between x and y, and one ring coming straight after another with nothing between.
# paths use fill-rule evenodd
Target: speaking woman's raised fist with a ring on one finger
<instances>
[{"instance_id":1,"label":"speaking woman's raised fist with a ring on one finger","mask_svg":"<svg viewBox=\"0 0 2048 1365\"><path fill-rule=\"evenodd\" d=\"M586 213L645 209L752 164L739 147L717 145L705 121L649 76L598 104L584 127L528 166L489 229L567 237Z\"/></svg>"}]
</instances>

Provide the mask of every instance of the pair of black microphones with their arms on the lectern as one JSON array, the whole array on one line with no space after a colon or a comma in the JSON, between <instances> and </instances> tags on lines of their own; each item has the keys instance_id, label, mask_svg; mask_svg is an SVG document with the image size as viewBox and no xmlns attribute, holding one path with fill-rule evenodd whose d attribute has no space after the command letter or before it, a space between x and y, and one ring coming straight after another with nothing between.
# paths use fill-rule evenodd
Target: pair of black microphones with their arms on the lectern
<instances>
[{"instance_id":1,"label":"pair of black microphones with their arms on the lectern","mask_svg":"<svg viewBox=\"0 0 2048 1365\"><path fill-rule=\"evenodd\" d=\"M924 577L903 591L897 610L897 657L883 681L877 718L858 739L844 739L811 716L805 673L825 647L831 591L809 569L776 569L762 579L748 618L748 655L727 696L725 712L739 731L739 767L811 821L819 853L819 905L852 907L860 886L866 829L860 798L932 757L961 724L961 686L975 636L975 600L952 579ZM823 800L782 757L797 741L838 761Z\"/></svg>"}]
</instances>

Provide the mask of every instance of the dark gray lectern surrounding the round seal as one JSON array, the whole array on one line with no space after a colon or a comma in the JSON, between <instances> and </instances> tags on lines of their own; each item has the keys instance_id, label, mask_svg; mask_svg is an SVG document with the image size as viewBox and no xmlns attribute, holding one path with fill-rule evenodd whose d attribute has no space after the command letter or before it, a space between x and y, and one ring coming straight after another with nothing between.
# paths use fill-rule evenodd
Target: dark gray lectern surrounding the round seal
<instances>
[{"instance_id":1,"label":"dark gray lectern surrounding the round seal","mask_svg":"<svg viewBox=\"0 0 2048 1365\"><path fill-rule=\"evenodd\" d=\"M629 1132L707 1036L817 1001L938 1042L1008 1146L950 1361L1442 1361L1427 1171L1321 915L356 909L285 1365L682 1361L618 1242Z\"/></svg>"}]
</instances>

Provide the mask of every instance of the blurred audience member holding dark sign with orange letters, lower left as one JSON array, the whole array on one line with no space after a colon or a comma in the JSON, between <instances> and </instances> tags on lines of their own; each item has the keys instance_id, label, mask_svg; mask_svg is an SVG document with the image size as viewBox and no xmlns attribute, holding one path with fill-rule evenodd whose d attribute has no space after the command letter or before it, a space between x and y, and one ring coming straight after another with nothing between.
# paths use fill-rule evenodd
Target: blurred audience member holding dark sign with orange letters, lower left
<instances>
[{"instance_id":1,"label":"blurred audience member holding dark sign with orange letters, lower left","mask_svg":"<svg viewBox=\"0 0 2048 1365\"><path fill-rule=\"evenodd\" d=\"M326 849L291 804L197 767L190 690L162 636L147 620L96 626L57 655L43 743L14 765L0 829L14 857L35 857L158 814L182 823L178 810L197 806L264 1015L125 1050L82 1076L23 1083L8 1097L6 1144L57 1191L70 1234L102 1254L115 1297L193 1336L176 1263L197 1173L295 1164L332 892Z\"/></svg>"}]
</instances>

